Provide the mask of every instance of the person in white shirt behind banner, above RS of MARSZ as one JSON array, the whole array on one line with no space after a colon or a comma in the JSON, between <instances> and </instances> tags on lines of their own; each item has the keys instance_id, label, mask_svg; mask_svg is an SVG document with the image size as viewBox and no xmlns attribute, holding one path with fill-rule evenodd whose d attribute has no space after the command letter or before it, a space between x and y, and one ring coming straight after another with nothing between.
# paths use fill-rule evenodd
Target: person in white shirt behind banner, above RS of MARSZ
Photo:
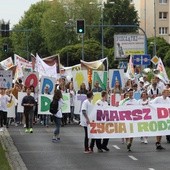
<instances>
[{"instance_id":1,"label":"person in white shirt behind banner, above RS of MARSZ","mask_svg":"<svg viewBox=\"0 0 170 170\"><path fill-rule=\"evenodd\" d=\"M136 99L133 98L133 89L128 90L129 93L129 100L126 100L122 105L137 105L138 102ZM127 144L127 151L131 151L133 138L126 138L126 144Z\"/></svg>"}]
</instances>

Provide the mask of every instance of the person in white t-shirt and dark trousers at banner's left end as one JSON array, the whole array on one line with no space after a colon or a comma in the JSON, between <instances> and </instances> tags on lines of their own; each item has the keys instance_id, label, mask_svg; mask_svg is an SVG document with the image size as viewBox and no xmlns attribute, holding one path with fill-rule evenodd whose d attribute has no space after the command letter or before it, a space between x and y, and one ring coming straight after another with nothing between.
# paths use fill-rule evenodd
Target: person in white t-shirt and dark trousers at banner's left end
<instances>
[{"instance_id":1,"label":"person in white t-shirt and dark trousers at banner's left end","mask_svg":"<svg viewBox=\"0 0 170 170\"><path fill-rule=\"evenodd\" d=\"M89 139L88 139L88 131L87 126L90 124L89 120L89 108L92 105L91 101L93 100L93 92L88 91L87 92L87 99L84 100L82 103L82 113L80 115L80 125L84 127L84 153L91 153L92 151L89 149Z\"/></svg>"}]
</instances>

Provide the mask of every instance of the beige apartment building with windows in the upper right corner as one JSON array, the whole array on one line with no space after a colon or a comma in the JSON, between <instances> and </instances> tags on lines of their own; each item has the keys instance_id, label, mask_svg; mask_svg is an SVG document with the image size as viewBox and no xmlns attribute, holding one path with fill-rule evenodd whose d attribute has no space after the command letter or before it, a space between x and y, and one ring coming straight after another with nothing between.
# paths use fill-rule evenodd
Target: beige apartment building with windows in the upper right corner
<instances>
[{"instance_id":1,"label":"beige apartment building with windows in the upper right corner","mask_svg":"<svg viewBox=\"0 0 170 170\"><path fill-rule=\"evenodd\" d=\"M132 0L147 37L163 37L170 43L170 0Z\"/></svg>"}]
</instances>

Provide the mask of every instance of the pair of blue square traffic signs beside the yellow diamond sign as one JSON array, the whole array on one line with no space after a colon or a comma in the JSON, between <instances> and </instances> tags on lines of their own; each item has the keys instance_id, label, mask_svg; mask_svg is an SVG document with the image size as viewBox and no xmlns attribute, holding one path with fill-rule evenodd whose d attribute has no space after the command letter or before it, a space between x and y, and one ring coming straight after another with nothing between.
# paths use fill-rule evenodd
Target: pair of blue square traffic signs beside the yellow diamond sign
<instances>
[{"instance_id":1,"label":"pair of blue square traffic signs beside the yellow diamond sign","mask_svg":"<svg viewBox=\"0 0 170 170\"><path fill-rule=\"evenodd\" d=\"M151 57L148 54L133 56L133 65L150 65L150 64Z\"/></svg>"}]
</instances>

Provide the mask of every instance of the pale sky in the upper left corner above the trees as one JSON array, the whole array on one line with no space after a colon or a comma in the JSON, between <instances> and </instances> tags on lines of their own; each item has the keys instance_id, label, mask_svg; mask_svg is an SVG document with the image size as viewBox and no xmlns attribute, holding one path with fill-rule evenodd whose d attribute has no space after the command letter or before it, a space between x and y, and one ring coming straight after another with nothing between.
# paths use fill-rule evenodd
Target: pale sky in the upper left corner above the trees
<instances>
[{"instance_id":1,"label":"pale sky in the upper left corner above the trees","mask_svg":"<svg viewBox=\"0 0 170 170\"><path fill-rule=\"evenodd\" d=\"M17 24L31 4L41 0L0 0L0 20L10 21L10 28Z\"/></svg>"}]
</instances>

